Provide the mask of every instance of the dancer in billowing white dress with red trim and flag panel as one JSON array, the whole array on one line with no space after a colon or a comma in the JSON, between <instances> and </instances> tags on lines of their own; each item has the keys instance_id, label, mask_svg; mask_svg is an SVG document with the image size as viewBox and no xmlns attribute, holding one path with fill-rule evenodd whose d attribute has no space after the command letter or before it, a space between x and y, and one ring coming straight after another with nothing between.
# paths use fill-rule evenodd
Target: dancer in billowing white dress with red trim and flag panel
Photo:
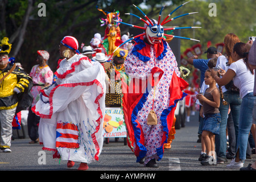
<instances>
[{"instance_id":1,"label":"dancer in billowing white dress with red trim and flag panel","mask_svg":"<svg viewBox=\"0 0 256 182\"><path fill-rule=\"evenodd\" d=\"M65 36L55 84L42 90L32 110L41 117L39 140L44 150L56 151L53 157L68 160L67 167L80 162L79 170L98 160L104 142L105 71L78 51L79 43Z\"/></svg>"}]
</instances>

